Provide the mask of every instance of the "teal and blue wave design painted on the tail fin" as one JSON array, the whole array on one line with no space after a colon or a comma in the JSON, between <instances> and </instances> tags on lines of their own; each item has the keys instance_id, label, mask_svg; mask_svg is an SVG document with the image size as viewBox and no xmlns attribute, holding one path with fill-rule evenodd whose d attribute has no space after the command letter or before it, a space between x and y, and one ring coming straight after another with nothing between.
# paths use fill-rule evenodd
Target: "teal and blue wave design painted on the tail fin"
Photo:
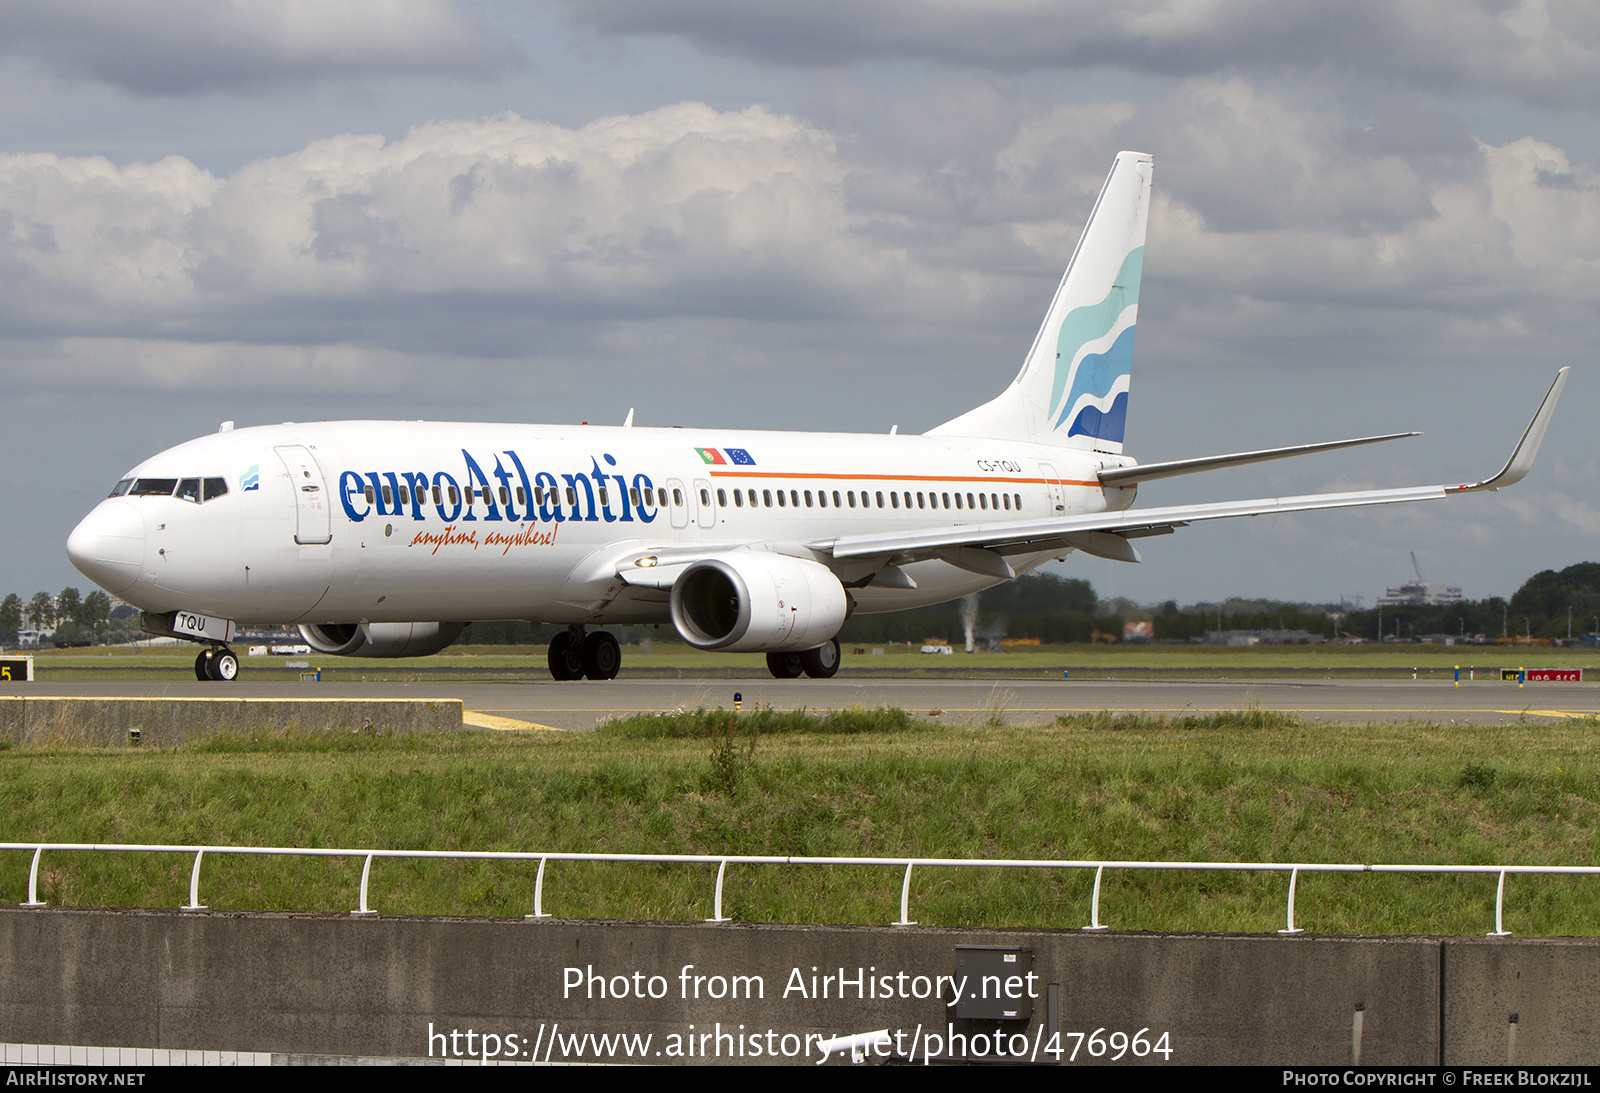
<instances>
[{"instance_id":1,"label":"teal and blue wave design painted on the tail fin","mask_svg":"<svg viewBox=\"0 0 1600 1093\"><path fill-rule=\"evenodd\" d=\"M1133 373L1133 328L1139 312L1144 248L1128 251L1104 299L1074 307L1056 338L1051 429L1122 443ZM1069 387L1070 381L1070 387ZM1062 389L1067 397L1061 398Z\"/></svg>"}]
</instances>

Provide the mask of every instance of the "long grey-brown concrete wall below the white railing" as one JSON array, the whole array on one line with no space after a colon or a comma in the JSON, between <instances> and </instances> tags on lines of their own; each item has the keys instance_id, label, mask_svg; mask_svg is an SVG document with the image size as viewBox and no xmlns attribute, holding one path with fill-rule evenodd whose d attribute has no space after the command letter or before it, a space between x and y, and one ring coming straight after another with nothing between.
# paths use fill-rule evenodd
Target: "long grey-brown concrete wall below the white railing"
<instances>
[{"instance_id":1,"label":"long grey-brown concrete wall below the white railing","mask_svg":"<svg viewBox=\"0 0 1600 1093\"><path fill-rule=\"evenodd\" d=\"M622 1032L651 1037L640 1061L698 1063L720 1032L723 1061L762 1063L773 1048L778 1061L786 1045L802 1051L808 1035L891 1029L909 1048L918 1026L949 1035L954 1023L968 1051L973 1034L992 1051L1000 1026L957 1019L928 989L970 963L957 946L1030 951L1011 967L1024 994L1035 976L1032 1016L1006 1032L1045 1048L1059 1032L1066 1051L1077 1042L1080 1064L1110 1061L1072 1035L1096 1029L1146 1029L1157 1045L1165 1032L1170 1061L1189 1064L1427 1066L1506 1063L1507 1051L1517 1063L1600 1061L1600 941L1584 939L72 909L0 911L0 1042L438 1058L467 1053L470 1029L474 1055L488 1032L501 1053L544 1058L552 1034ZM846 983L843 999L840 970L862 981ZM750 976L755 997L726 997L733 976ZM619 987L645 997L614 997ZM565 1048L552 1058L563 1055L574 1058ZM576 1055L602 1053L589 1042ZM816 1058L813 1048L787 1061Z\"/></svg>"}]
</instances>

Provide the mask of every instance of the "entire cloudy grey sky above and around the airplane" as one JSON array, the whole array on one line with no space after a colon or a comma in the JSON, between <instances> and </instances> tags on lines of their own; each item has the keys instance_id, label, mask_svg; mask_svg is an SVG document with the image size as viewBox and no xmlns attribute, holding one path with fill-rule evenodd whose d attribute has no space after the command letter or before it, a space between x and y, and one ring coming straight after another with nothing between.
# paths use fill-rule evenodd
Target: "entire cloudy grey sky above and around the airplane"
<instances>
[{"instance_id":1,"label":"entire cloudy grey sky above and around the airplane","mask_svg":"<svg viewBox=\"0 0 1600 1093\"><path fill-rule=\"evenodd\" d=\"M1370 605L1600 557L1600 10L1578 0L0 0L0 592L139 459L320 418L912 432L1005 386L1155 155L1128 450L1426 435L1141 504L1102 595Z\"/></svg>"}]
</instances>

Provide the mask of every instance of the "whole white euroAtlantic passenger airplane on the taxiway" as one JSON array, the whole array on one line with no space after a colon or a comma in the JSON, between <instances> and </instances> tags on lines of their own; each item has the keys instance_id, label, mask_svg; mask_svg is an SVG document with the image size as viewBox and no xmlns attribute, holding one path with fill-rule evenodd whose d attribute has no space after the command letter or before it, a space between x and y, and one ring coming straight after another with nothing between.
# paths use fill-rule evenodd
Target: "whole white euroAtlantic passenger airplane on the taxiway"
<instances>
[{"instance_id":1,"label":"whole white euroAtlantic passenger airplane on the taxiway","mask_svg":"<svg viewBox=\"0 0 1600 1093\"><path fill-rule=\"evenodd\" d=\"M1528 474L1563 368L1504 469L1466 485L1133 509L1141 482L1416 434L1139 466L1122 451L1152 160L1122 152L1016 379L915 435L341 421L234 429L128 470L67 539L85 576L238 672L238 624L320 653L426 656L474 619L565 624L557 679L611 679L603 624L670 623L773 675L838 671L853 611L941 603L1202 520L1498 490Z\"/></svg>"}]
</instances>

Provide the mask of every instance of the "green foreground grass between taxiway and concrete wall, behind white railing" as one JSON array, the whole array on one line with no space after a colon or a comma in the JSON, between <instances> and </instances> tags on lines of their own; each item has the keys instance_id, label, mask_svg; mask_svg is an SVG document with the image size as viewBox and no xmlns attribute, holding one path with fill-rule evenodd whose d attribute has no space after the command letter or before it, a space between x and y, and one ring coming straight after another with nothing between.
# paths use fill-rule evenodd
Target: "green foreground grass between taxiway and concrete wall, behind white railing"
<instances>
[{"instance_id":1,"label":"green foreground grass between taxiway and concrete wall, behind white railing","mask_svg":"<svg viewBox=\"0 0 1600 1093\"><path fill-rule=\"evenodd\" d=\"M1590 864L1600 723L1302 723L1085 715L1030 730L901 712L664 715L592 735L211 739L0 751L5 840L816 856ZM51 904L187 901L190 856L46 855ZM26 898L29 855L0 855ZM208 858L202 903L344 912L362 861ZM546 911L699 920L709 866L550 864ZM381 912L522 915L534 867L379 861ZM1091 872L923 869L925 925L1080 927ZM888 923L899 869L730 867L725 914ZM1114 928L1270 931L1286 875L1109 872ZM1302 875L1320 933L1482 935L1494 877ZM1512 877L1507 928L1600 933L1600 877Z\"/></svg>"}]
</instances>

